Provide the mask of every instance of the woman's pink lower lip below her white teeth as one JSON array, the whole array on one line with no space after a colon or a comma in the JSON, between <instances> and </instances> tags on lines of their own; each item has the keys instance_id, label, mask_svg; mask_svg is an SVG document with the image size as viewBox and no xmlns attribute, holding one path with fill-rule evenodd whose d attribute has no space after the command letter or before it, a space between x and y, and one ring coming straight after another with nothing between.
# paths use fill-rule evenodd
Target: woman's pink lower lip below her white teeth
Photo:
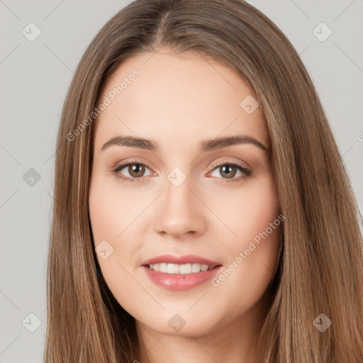
<instances>
[{"instance_id":1,"label":"woman's pink lower lip below her white teeth","mask_svg":"<svg viewBox=\"0 0 363 363\"><path fill-rule=\"evenodd\" d=\"M207 271L193 272L191 274L164 274L158 272L149 267L143 266L147 277L167 290L184 291L193 289L200 284L212 279L222 266L214 267L214 269L208 269Z\"/></svg>"}]
</instances>

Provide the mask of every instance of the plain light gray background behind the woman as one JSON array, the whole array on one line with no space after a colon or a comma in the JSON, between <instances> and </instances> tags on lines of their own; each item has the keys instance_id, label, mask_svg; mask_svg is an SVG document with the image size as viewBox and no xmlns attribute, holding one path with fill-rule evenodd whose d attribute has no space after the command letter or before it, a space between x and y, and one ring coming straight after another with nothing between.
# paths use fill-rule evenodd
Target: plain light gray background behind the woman
<instances>
[{"instance_id":1,"label":"plain light gray background behind the woman","mask_svg":"<svg viewBox=\"0 0 363 363\"><path fill-rule=\"evenodd\" d=\"M0 363L42 360L55 138L62 103L86 46L129 2L0 0ZM284 31L301 55L362 211L363 1L249 2ZM41 30L33 42L22 33L24 28L30 33L30 22ZM325 41L313 33L321 22L333 31ZM322 38L328 28L315 32Z\"/></svg>"}]
</instances>

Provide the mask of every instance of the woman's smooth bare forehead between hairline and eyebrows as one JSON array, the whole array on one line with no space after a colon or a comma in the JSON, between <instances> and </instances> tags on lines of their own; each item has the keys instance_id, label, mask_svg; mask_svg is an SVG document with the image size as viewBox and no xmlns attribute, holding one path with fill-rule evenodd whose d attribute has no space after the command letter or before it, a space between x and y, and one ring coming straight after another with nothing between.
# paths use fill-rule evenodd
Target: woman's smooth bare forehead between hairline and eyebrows
<instances>
[{"instance_id":1,"label":"woman's smooth bare forehead between hairline and eyebrows","mask_svg":"<svg viewBox=\"0 0 363 363\"><path fill-rule=\"evenodd\" d=\"M109 104L96 120L95 146L125 134L170 147L234 134L267 145L262 110L247 113L246 97L252 97L247 82L219 62L193 53L143 53L123 62L105 84L99 103Z\"/></svg>"}]
</instances>

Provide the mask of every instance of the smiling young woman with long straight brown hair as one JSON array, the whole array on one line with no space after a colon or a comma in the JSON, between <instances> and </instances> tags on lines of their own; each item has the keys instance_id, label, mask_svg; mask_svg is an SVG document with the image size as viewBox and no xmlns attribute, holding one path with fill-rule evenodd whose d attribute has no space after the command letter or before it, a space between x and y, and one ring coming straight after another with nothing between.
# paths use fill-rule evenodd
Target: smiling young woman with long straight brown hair
<instances>
[{"instance_id":1,"label":"smiling young woman with long straight brown hair","mask_svg":"<svg viewBox=\"0 0 363 363\"><path fill-rule=\"evenodd\" d=\"M289 40L137 0L62 112L45 362L362 362L359 211Z\"/></svg>"}]
</instances>

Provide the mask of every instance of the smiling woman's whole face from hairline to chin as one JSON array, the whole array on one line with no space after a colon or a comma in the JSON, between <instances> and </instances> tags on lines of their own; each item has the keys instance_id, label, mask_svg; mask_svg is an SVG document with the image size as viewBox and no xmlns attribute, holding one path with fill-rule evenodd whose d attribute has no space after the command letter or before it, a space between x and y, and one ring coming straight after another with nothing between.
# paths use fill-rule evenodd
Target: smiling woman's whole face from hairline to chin
<instances>
[{"instance_id":1,"label":"smiling woman's whole face from hairline to chin","mask_svg":"<svg viewBox=\"0 0 363 363\"><path fill-rule=\"evenodd\" d=\"M104 279L139 326L198 336L257 318L281 220L251 93L230 68L166 50L127 60L104 87L91 227Z\"/></svg>"}]
</instances>

